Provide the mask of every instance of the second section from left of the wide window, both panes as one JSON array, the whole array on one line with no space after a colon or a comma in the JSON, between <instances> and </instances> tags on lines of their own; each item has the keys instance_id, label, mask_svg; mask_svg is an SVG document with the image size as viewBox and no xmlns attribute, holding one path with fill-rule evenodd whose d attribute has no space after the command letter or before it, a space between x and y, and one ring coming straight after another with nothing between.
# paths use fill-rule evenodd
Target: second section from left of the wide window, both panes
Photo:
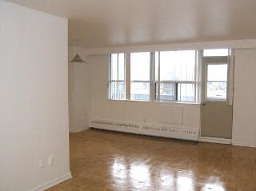
<instances>
[{"instance_id":1,"label":"second section from left of the wide window, both panes","mask_svg":"<svg viewBox=\"0 0 256 191\"><path fill-rule=\"evenodd\" d=\"M150 52L130 54L132 100L150 100Z\"/></svg>"}]
</instances>

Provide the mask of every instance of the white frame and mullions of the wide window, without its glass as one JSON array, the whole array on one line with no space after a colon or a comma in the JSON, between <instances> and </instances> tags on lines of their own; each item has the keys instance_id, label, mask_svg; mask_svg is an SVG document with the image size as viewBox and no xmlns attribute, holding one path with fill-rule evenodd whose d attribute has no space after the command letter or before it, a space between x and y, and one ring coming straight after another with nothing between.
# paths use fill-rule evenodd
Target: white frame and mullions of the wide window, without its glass
<instances>
[{"instance_id":1,"label":"white frame and mullions of the wide window, without its glass","mask_svg":"<svg viewBox=\"0 0 256 191\"><path fill-rule=\"evenodd\" d=\"M168 51L182 51L182 50L168 50ZM201 104L202 101L202 51L203 50L194 50L195 52L195 64L194 64L194 80L193 81L161 81L158 83L158 79L161 79L161 71L160 71L160 52L161 51L145 51L150 53L150 81L138 81L130 80L130 54L132 52L122 52L124 54L125 58L125 80L111 80L111 71L110 71L110 65L109 65L109 82L108 82L108 99L114 100L114 101L154 101L154 102L166 102L166 103L184 103L184 104ZM139 52L139 51L138 51ZM136 53L136 52L134 52ZM158 53L158 79L155 78L156 75L156 53ZM114 53L114 54L120 54L120 53ZM109 54L109 63L111 64L111 54ZM125 83L125 98L124 99L118 99L118 98L111 98L110 97L110 83L111 82L124 82ZM130 85L132 82L147 82L150 83L150 99L149 100L138 100L138 99L131 99L131 91L130 91ZM160 84L161 83L175 83L175 100L164 100L160 99L160 94L157 98L157 91L160 92ZM194 85L194 100L193 101L178 101L178 86L177 84L193 84Z\"/></svg>"}]
</instances>

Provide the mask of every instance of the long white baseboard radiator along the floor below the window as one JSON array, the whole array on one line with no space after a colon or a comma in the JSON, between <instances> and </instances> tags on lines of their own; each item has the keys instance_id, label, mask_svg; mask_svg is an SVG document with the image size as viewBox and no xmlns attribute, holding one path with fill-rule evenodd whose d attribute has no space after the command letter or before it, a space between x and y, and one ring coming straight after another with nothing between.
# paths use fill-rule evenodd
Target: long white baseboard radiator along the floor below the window
<instances>
[{"instance_id":1,"label":"long white baseboard radiator along the floor below the window","mask_svg":"<svg viewBox=\"0 0 256 191\"><path fill-rule=\"evenodd\" d=\"M90 127L125 133L145 134L156 137L169 137L190 141L198 141L199 129L185 129L170 125L139 124L126 121L90 120Z\"/></svg>"}]
</instances>

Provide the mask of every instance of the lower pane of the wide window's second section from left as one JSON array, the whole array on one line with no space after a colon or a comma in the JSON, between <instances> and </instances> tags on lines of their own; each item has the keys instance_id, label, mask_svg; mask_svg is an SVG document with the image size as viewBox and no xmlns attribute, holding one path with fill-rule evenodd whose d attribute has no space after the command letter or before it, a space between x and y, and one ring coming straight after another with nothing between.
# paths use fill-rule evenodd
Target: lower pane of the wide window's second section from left
<instances>
[{"instance_id":1,"label":"lower pane of the wide window's second section from left","mask_svg":"<svg viewBox=\"0 0 256 191\"><path fill-rule=\"evenodd\" d=\"M130 94L133 100L150 100L150 82L131 82Z\"/></svg>"}]
</instances>

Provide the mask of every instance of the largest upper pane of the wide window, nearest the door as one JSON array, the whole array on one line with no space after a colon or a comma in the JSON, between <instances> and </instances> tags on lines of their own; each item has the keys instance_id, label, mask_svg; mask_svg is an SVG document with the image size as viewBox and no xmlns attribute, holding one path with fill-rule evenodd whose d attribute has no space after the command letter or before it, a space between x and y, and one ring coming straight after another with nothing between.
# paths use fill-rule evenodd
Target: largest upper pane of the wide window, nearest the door
<instances>
[{"instance_id":1,"label":"largest upper pane of the wide window, nearest the door","mask_svg":"<svg viewBox=\"0 0 256 191\"><path fill-rule=\"evenodd\" d=\"M194 81L195 50L160 52L161 81Z\"/></svg>"}]
</instances>

